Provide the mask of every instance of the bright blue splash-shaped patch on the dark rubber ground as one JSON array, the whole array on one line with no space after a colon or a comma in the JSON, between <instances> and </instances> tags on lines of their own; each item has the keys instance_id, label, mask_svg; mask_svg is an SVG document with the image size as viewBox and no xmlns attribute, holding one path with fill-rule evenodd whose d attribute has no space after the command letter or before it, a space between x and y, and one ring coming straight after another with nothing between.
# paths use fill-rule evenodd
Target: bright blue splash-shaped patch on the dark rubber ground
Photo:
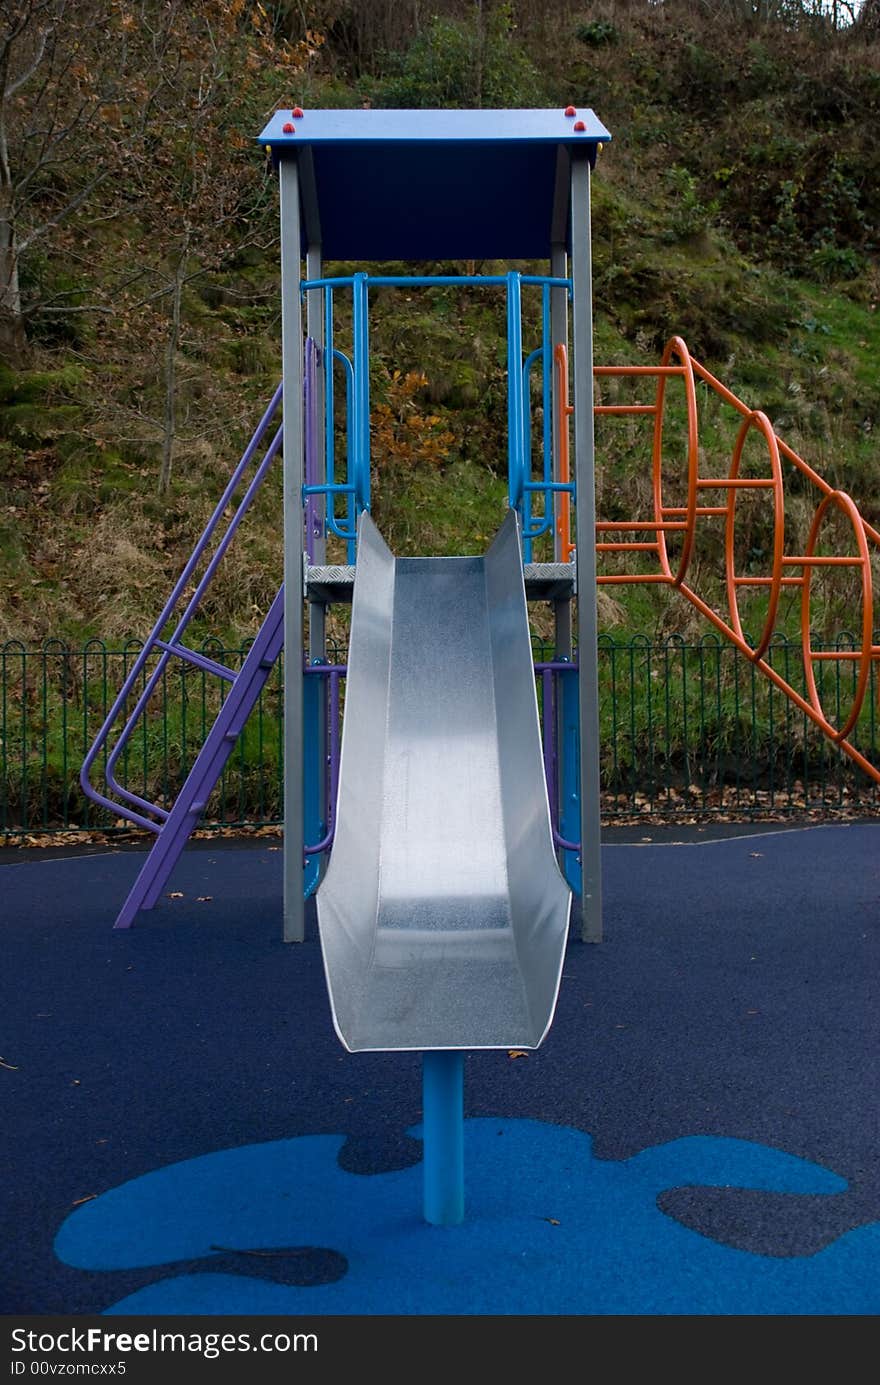
<instances>
[{"instance_id":1,"label":"bright blue splash-shaped patch on the dark rubber ground","mask_svg":"<svg viewBox=\"0 0 880 1385\"><path fill-rule=\"evenodd\" d=\"M467 1216L421 1219L421 1165L355 1174L344 1136L302 1136L188 1159L78 1208L55 1253L83 1270L154 1266L155 1283L107 1309L147 1314L873 1314L880 1223L812 1256L721 1245L657 1206L675 1187L844 1191L837 1174L743 1140L692 1136L622 1161L539 1120L473 1119ZM413 1132L417 1133L417 1132ZM211 1271L218 1246L328 1246L333 1284ZM175 1263L205 1258L205 1273Z\"/></svg>"}]
</instances>

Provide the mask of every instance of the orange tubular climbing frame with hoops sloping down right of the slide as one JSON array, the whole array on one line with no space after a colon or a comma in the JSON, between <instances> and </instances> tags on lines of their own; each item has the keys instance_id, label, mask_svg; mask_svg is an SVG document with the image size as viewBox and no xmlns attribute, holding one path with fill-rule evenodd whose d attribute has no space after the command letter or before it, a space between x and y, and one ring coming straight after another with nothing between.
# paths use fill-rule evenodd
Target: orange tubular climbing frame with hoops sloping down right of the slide
<instances>
[{"instance_id":1,"label":"orange tubular climbing frame with hoops sloping down right of the slide","mask_svg":"<svg viewBox=\"0 0 880 1385\"><path fill-rule=\"evenodd\" d=\"M561 353L561 355L560 355ZM563 370L564 348L556 349L556 359L560 368L560 375ZM675 364L674 361L678 361ZM880 533L869 525L863 517L859 514L858 507L854 500L845 494L843 490L836 490L827 483L816 471L809 467L802 457L789 447L787 443L779 438L766 417L766 414L753 410L748 404L744 404L741 399L737 399L732 391L721 384L700 361L694 360L687 350L683 339L680 337L672 337L667 343L660 366L596 366L595 375L597 378L603 377L636 377L644 375L647 378L654 378L657 381L657 392L653 404L597 404L596 414L644 414L653 417L653 445L651 445L651 485L653 485L653 508L654 518L633 522L617 522L617 521L600 521L596 524L596 551L601 553L643 553L654 554L657 558L657 571L654 572L635 572L635 573L599 573L600 584L611 583L639 583L639 582L660 582L667 586L676 587L682 596L693 605L696 609L728 640L734 644L741 654L744 654L751 662L764 673L775 687L786 694L794 702L800 711L809 717L809 720L819 727L845 755L852 759L859 769L862 769L870 778L880 783L880 769L870 763L858 751L847 737L855 727L859 713L862 711L865 695L868 692L869 679L870 679L870 665L874 659L880 659L880 647L872 643L873 640L873 582L870 569L870 546L880 548ZM686 497L685 504L669 506L664 503L662 494L662 422L664 422L664 404L665 404L665 389L667 381L671 378L679 378L685 385L685 399L687 406L687 458L686 458ZM723 403L729 404L741 417L740 429L733 446L733 454L730 460L730 467L726 476L700 476L698 475L698 421L697 421L697 396L696 396L696 381L707 385ZM565 389L567 396L567 389ZM565 397L560 391L560 399ZM571 410L563 416L560 404L560 443L565 439L565 479L568 478L568 429L567 418ZM563 428L563 424L565 427ZM740 475L740 465L743 458L743 450L748 435L755 431L761 434L766 443L768 458L769 458L769 476L766 478L746 478ZM795 471L805 476L822 494L822 500L813 515L812 528L809 530L809 537L807 542L807 551L804 554L786 554L784 551L784 488L783 488L783 468L782 463L787 461ZM560 449L560 476L563 474L561 449ZM766 576L740 576L736 572L734 561L734 530L736 530L736 497L739 490L769 490L771 500L773 506L773 550L771 558L771 568ZM703 504L700 503L704 492L721 490L725 492L723 504ZM563 500L567 501L567 494L563 493ZM833 507L840 511L852 525L852 532L855 535L856 553L852 555L822 555L816 553L816 546L819 540L819 532L822 529L822 522ZM563 511L567 506L560 506L560 525L563 521ZM728 590L729 602L729 620L725 620L716 611L714 611L692 587L685 583L685 576L693 555L694 536L697 519L704 519L710 517L723 517L725 519L725 579ZM561 528L558 529L561 536ZM646 535L644 539L606 539L608 533L637 533ZM667 551L667 533L680 533L682 535L682 553L678 561L678 568L672 572L672 564L669 562L669 554ZM650 536L650 537L649 537ZM862 619L861 619L861 645L858 650L830 650L830 651L813 651L811 641L811 612L809 612L809 596L811 596L811 576L813 568L819 566L850 566L858 569L862 589ZM791 573L790 569L800 569L797 575ZM739 612L737 593L741 587L766 587L768 589L768 611L764 622L764 629L757 644L753 647L746 638L743 632L743 625ZM776 623L776 616L779 612L779 600L783 587L800 587L801 589L801 641L804 648L804 679L807 687L807 697L802 697L795 688L791 687L769 663L764 655L766 654L771 640L773 636L773 627ZM855 680L855 692L852 698L852 705L847 717L843 720L841 726L834 726L834 723L826 715L822 701L819 697L819 688L816 684L815 665L819 661L830 659L848 659L858 661L858 673Z\"/></svg>"}]
</instances>

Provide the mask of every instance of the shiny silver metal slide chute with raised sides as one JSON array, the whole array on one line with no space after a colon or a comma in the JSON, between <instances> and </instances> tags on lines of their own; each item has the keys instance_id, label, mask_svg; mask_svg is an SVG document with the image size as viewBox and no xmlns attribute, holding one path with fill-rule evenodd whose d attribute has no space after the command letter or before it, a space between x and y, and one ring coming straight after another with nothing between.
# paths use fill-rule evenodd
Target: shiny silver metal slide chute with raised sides
<instances>
[{"instance_id":1,"label":"shiny silver metal slide chute with raised sides","mask_svg":"<svg viewBox=\"0 0 880 1385\"><path fill-rule=\"evenodd\" d=\"M571 892L540 752L518 519L395 558L362 514L335 839L317 891L349 1051L536 1048Z\"/></svg>"}]
</instances>

